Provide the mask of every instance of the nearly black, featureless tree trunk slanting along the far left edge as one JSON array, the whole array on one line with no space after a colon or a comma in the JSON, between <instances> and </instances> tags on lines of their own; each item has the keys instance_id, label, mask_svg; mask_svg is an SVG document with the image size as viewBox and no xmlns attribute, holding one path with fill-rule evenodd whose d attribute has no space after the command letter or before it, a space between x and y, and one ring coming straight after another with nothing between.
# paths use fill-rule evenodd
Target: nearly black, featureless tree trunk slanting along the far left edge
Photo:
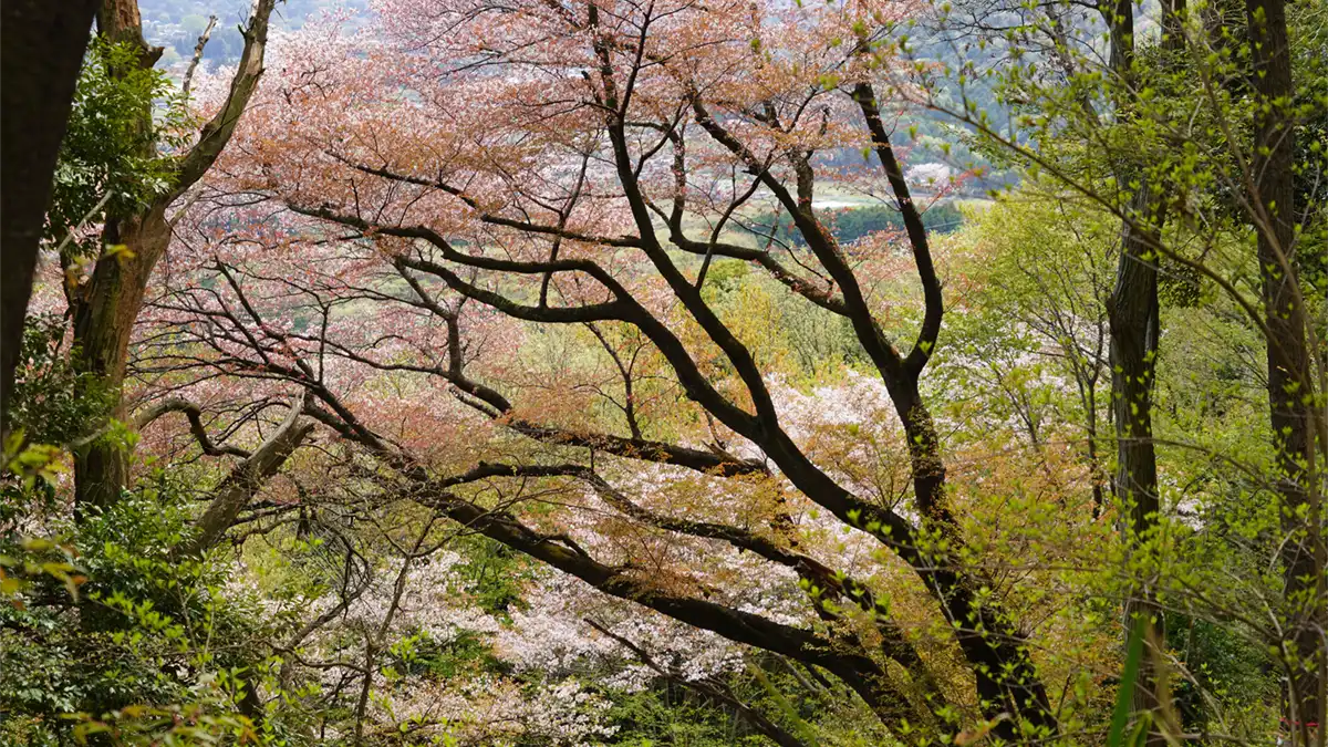
<instances>
[{"instance_id":1,"label":"nearly black, featureless tree trunk slanting along the far left edge","mask_svg":"<svg viewBox=\"0 0 1328 747\"><path fill-rule=\"evenodd\" d=\"M96 7L96 0L0 7L0 435L8 431L56 157Z\"/></svg>"}]
</instances>

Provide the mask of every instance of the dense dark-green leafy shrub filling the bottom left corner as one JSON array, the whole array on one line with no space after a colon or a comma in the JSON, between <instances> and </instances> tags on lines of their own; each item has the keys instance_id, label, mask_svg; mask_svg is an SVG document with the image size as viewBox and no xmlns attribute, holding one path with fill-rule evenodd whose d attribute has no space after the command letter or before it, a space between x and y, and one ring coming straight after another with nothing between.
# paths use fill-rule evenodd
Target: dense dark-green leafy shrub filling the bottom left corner
<instances>
[{"instance_id":1,"label":"dense dark-green leafy shrub filling the bottom left corner","mask_svg":"<svg viewBox=\"0 0 1328 747\"><path fill-rule=\"evenodd\" d=\"M256 597L223 589L224 565L174 554L187 536L185 494L158 480L89 512L70 553L93 580L82 594L42 578L21 606L0 607L0 734L32 744L252 743L238 703L268 666L259 643L278 621Z\"/></svg>"}]
</instances>

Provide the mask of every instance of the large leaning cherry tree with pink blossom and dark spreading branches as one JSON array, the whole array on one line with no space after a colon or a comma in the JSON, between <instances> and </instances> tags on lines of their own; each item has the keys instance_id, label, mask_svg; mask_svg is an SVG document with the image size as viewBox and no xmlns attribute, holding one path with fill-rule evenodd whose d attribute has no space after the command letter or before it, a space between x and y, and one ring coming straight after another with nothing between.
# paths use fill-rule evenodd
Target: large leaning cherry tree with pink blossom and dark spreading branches
<instances>
[{"instance_id":1,"label":"large leaning cherry tree with pink blossom and dark spreading branches","mask_svg":"<svg viewBox=\"0 0 1328 747\"><path fill-rule=\"evenodd\" d=\"M299 388L384 494L829 673L896 735L1053 736L1068 706L1044 667L1066 665L1038 651L1065 621L988 562L924 396L942 272L891 138L907 112L878 89L896 70L866 53L915 8L376 11L360 36L329 17L278 45L135 371ZM818 158L845 149L903 235L829 230ZM799 246L734 238L761 205ZM847 324L871 375L815 400L785 383L770 330L714 295L734 265Z\"/></svg>"}]
</instances>

